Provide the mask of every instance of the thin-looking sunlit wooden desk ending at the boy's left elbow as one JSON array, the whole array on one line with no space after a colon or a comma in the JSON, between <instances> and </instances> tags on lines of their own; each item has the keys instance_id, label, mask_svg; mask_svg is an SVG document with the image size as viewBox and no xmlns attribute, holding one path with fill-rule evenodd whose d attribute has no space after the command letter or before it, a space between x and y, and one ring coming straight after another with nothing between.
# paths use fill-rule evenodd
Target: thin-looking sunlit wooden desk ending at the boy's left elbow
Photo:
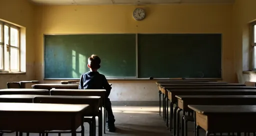
<instances>
[{"instance_id":1,"label":"thin-looking sunlit wooden desk ending at the boy's left elbow","mask_svg":"<svg viewBox=\"0 0 256 136\"><path fill-rule=\"evenodd\" d=\"M61 84L61 83L40 83L33 84L32 88L35 89L52 89L52 88L62 88L62 89L78 89L79 84Z\"/></svg>"}]
</instances>

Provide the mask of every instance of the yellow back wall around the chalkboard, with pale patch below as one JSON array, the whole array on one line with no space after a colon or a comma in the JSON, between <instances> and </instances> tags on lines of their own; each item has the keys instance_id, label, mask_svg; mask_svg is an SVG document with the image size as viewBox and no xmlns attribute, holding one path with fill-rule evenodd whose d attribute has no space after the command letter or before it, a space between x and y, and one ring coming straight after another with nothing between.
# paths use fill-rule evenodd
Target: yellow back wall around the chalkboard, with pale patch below
<instances>
[{"instance_id":1,"label":"yellow back wall around the chalkboard, with pale patch below","mask_svg":"<svg viewBox=\"0 0 256 136\"><path fill-rule=\"evenodd\" d=\"M135 21L135 7L146 18ZM222 33L223 80L235 82L232 4L65 5L36 7L35 77L43 80L43 33ZM210 61L210 60L209 60ZM54 82L59 82L55 80ZM111 100L157 100L154 81L109 80Z\"/></svg>"}]
</instances>

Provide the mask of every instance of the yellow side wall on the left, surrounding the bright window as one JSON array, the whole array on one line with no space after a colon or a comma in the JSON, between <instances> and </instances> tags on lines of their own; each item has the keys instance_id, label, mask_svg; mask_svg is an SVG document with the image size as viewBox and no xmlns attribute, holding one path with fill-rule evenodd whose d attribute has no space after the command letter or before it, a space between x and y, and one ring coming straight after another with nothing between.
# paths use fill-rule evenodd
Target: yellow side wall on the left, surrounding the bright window
<instances>
[{"instance_id":1,"label":"yellow side wall on the left, surrounding the bright window","mask_svg":"<svg viewBox=\"0 0 256 136\"><path fill-rule=\"evenodd\" d=\"M34 80L34 6L28 0L0 0L0 19L25 27L26 74L0 74L0 88L8 81Z\"/></svg>"}]
</instances>

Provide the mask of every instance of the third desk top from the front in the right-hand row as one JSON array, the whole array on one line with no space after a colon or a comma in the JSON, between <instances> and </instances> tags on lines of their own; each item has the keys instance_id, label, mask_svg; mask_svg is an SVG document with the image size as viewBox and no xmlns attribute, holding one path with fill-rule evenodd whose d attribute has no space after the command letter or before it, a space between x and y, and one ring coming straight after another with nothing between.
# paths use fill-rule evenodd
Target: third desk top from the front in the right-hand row
<instances>
[{"instance_id":1,"label":"third desk top from the front in the right-hand row","mask_svg":"<svg viewBox=\"0 0 256 136\"><path fill-rule=\"evenodd\" d=\"M224 86L225 87L225 86ZM185 88L185 89L167 89L169 92L180 92L180 91L194 91L194 92L201 92L201 91L250 91L250 92L256 92L256 88L254 89L243 89L243 88L202 88L202 89L195 89L195 88Z\"/></svg>"}]
</instances>

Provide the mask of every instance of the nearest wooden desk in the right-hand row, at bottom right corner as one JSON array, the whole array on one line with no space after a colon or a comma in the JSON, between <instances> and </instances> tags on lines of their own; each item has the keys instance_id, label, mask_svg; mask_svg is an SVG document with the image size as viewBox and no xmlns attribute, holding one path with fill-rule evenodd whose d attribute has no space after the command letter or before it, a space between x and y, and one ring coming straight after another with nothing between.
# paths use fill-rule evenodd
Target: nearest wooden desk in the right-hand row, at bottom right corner
<instances>
[{"instance_id":1,"label":"nearest wooden desk in the right-hand row, at bottom right corner","mask_svg":"<svg viewBox=\"0 0 256 136\"><path fill-rule=\"evenodd\" d=\"M188 105L194 111L195 135L199 127L206 136L216 132L255 132L256 105Z\"/></svg>"}]
</instances>

